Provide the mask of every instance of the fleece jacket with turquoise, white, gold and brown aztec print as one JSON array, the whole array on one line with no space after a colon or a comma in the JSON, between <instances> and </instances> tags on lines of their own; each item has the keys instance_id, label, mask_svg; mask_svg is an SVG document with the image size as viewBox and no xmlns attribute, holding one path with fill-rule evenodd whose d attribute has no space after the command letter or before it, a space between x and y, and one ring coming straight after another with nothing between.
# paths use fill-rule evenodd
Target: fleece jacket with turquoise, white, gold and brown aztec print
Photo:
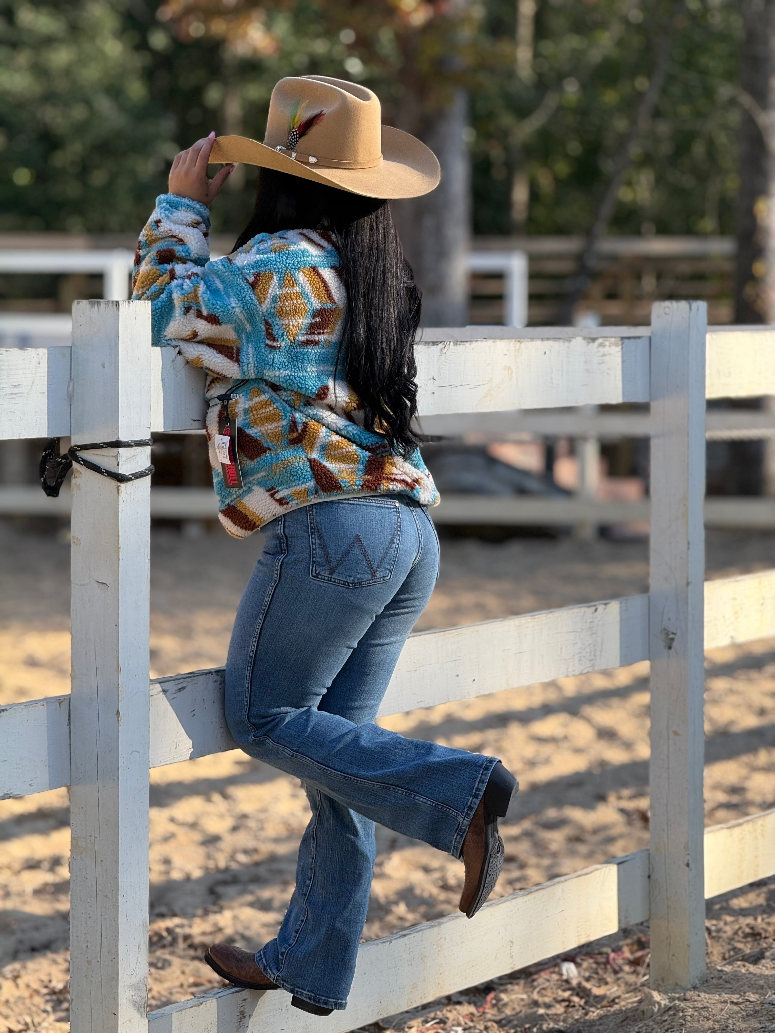
<instances>
[{"instance_id":1,"label":"fleece jacket with turquoise, white, gold and brown aztec print","mask_svg":"<svg viewBox=\"0 0 775 1033\"><path fill-rule=\"evenodd\" d=\"M420 451L394 455L364 428L351 388L335 380L346 294L332 239L259 233L210 261L209 230L206 206L158 197L137 244L132 298L152 303L153 343L179 348L209 374L207 436L226 531L244 538L296 506L338 496L401 493L435 504ZM243 478L235 489L215 453L225 417L217 396L243 380L227 403Z\"/></svg>"}]
</instances>

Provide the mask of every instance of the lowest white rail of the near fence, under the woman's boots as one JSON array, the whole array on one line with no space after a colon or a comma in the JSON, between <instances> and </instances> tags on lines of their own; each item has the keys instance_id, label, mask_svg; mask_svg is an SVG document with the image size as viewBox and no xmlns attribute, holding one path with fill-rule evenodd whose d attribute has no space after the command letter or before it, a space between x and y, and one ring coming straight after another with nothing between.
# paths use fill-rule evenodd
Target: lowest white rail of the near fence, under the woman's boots
<instances>
[{"instance_id":1,"label":"lowest white rail of the near fence, under the woman's boots","mask_svg":"<svg viewBox=\"0 0 775 1033\"><path fill-rule=\"evenodd\" d=\"M715 896L772 870L775 811L705 833L706 878ZM717 873L723 878L717 879ZM639 850L488 904L478 924L450 915L365 943L346 1011L326 1030L354 1027L505 975L649 917L649 851ZM529 930L529 935L525 931ZM279 998L279 1000L278 1000ZM152 1011L151 1033L318 1033L285 995L222 990Z\"/></svg>"}]
</instances>

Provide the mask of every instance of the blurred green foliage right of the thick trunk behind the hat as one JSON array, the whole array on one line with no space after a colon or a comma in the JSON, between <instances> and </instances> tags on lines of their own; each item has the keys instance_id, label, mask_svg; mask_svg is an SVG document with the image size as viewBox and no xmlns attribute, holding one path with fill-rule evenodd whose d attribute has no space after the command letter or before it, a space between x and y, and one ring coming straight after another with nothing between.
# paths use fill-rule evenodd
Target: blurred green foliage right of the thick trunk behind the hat
<instances>
[{"instance_id":1,"label":"blurred green foliage right of the thick trunk behind the hat","mask_svg":"<svg viewBox=\"0 0 775 1033\"><path fill-rule=\"evenodd\" d=\"M490 31L514 34L513 0L491 0L489 11ZM668 82L630 155L612 231L734 232L740 109L730 84L743 31L734 0L689 0L677 15L662 0L544 0L532 82L513 74L472 98L476 231L508 231L509 187L521 167L530 232L589 228L663 31ZM554 100L546 122L524 134L531 114Z\"/></svg>"}]
</instances>

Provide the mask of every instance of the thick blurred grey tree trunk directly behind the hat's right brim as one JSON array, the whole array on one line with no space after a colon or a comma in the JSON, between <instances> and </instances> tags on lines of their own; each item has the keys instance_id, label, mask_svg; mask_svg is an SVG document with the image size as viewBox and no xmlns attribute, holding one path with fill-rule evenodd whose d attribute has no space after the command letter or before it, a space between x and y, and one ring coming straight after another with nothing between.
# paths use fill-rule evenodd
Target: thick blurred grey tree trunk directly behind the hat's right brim
<instances>
[{"instance_id":1,"label":"thick blurred grey tree trunk directly behind the hat's right brim","mask_svg":"<svg viewBox=\"0 0 775 1033\"><path fill-rule=\"evenodd\" d=\"M423 325L464 326L471 233L470 160L463 138L468 98L458 90L444 111L430 116L422 111L421 98L407 97L398 125L420 136L435 153L441 182L423 197L394 201L393 215L423 292Z\"/></svg>"}]
</instances>

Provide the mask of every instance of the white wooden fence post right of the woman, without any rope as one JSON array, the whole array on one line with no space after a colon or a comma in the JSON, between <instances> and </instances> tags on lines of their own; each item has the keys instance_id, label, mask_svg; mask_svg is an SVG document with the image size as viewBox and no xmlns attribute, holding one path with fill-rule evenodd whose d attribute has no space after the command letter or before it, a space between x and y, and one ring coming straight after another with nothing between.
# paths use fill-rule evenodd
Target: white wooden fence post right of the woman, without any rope
<instances>
[{"instance_id":1,"label":"white wooden fence post right of the woman, without any rope","mask_svg":"<svg viewBox=\"0 0 775 1033\"><path fill-rule=\"evenodd\" d=\"M704 302L651 316L651 982L705 969Z\"/></svg>"}]
</instances>

